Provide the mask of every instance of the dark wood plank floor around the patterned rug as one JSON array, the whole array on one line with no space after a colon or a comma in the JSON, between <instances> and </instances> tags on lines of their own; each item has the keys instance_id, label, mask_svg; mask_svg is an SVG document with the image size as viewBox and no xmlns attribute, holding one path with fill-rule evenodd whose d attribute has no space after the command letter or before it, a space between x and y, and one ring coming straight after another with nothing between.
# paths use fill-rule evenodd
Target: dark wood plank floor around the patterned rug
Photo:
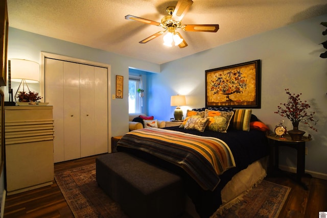
<instances>
[{"instance_id":1,"label":"dark wood plank floor around the patterned rug","mask_svg":"<svg viewBox=\"0 0 327 218\"><path fill-rule=\"evenodd\" d=\"M55 164L55 172L95 163L97 156ZM284 207L278 218L319 217L319 211L327 211L327 180L303 178L309 190L286 177L266 178L266 180L291 187ZM56 181L53 185L7 196L5 217L74 217L65 202Z\"/></svg>"}]
</instances>

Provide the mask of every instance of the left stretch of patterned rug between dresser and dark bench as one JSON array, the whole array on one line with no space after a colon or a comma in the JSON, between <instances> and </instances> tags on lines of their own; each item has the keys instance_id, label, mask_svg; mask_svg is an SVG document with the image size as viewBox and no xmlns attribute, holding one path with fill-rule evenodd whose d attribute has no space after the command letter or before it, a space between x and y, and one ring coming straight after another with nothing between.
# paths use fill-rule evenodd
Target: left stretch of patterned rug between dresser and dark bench
<instances>
[{"instance_id":1,"label":"left stretch of patterned rug between dresser and dark bench","mask_svg":"<svg viewBox=\"0 0 327 218\"><path fill-rule=\"evenodd\" d=\"M98 186L96 164L55 173L55 180L75 217L127 218Z\"/></svg>"}]
</instances>

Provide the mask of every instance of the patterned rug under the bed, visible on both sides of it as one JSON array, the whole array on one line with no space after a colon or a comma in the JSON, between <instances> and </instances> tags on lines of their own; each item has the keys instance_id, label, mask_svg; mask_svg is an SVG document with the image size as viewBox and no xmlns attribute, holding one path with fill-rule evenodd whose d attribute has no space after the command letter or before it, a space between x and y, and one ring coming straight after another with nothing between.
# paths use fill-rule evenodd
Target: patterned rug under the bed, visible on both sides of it
<instances>
[{"instance_id":1,"label":"patterned rug under the bed, visible on both sides of it","mask_svg":"<svg viewBox=\"0 0 327 218\"><path fill-rule=\"evenodd\" d=\"M75 217L127 218L98 186L96 164L55 173L55 179ZM219 217L277 217L290 189L264 180Z\"/></svg>"}]
</instances>

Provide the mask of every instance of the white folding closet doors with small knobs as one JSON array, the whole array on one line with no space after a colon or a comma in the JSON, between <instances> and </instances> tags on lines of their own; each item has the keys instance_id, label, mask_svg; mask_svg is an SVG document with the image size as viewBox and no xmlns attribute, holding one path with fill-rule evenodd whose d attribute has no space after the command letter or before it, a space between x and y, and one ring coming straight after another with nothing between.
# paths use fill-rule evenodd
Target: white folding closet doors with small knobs
<instances>
[{"instance_id":1,"label":"white folding closet doors with small knobs","mask_svg":"<svg viewBox=\"0 0 327 218\"><path fill-rule=\"evenodd\" d=\"M108 152L107 68L45 58L45 101L54 106L54 162Z\"/></svg>"}]
</instances>

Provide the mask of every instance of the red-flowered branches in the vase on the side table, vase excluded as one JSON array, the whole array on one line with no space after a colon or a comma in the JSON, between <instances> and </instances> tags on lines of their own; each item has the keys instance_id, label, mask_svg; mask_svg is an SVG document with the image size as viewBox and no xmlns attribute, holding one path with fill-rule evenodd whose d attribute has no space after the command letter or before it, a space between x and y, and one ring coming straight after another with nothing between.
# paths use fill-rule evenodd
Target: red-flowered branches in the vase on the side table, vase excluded
<instances>
[{"instance_id":1,"label":"red-flowered branches in the vase on the side table, vase excluded","mask_svg":"<svg viewBox=\"0 0 327 218\"><path fill-rule=\"evenodd\" d=\"M307 112L307 110L310 108L310 105L307 103L307 101L302 102L300 100L299 97L302 93L291 94L289 89L285 90L286 94L288 94L288 101L286 104L281 103L281 105L284 107L277 106L278 110L275 113L289 118L292 123L301 122L307 124L311 129L317 132L318 130L309 124L309 122L313 122L314 125L317 124L318 120L313 118L315 112Z\"/></svg>"}]
</instances>

